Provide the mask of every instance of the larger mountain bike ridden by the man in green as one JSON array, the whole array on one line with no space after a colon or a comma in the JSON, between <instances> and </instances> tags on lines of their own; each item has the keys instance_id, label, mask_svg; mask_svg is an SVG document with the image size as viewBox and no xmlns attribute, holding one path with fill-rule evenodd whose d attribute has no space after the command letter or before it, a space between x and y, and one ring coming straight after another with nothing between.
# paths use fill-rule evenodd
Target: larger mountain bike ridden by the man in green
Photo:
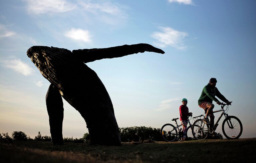
<instances>
[{"instance_id":1,"label":"larger mountain bike ridden by the man in green","mask_svg":"<svg viewBox=\"0 0 256 163\"><path fill-rule=\"evenodd\" d=\"M241 136L243 132L243 125L241 121L236 116L230 116L227 114L229 110L228 104L221 103L220 105L220 110L213 111L213 113L222 111L221 115L219 116L213 127L203 122L205 114L194 117L196 118L192 126L192 134L194 138L201 140L205 139L208 134L213 134L217 126L219 125L218 123L223 115L225 116L225 119L222 123L222 132L224 136L228 139L238 139ZM203 118L201 118L202 116Z\"/></svg>"}]
</instances>

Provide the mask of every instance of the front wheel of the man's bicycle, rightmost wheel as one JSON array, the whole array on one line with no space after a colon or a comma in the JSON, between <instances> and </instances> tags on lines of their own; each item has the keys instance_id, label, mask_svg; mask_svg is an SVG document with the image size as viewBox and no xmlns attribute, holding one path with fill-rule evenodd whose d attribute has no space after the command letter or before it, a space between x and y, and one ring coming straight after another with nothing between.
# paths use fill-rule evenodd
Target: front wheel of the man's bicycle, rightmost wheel
<instances>
[{"instance_id":1,"label":"front wheel of the man's bicycle, rightmost wheel","mask_svg":"<svg viewBox=\"0 0 256 163\"><path fill-rule=\"evenodd\" d=\"M232 123L233 128L229 127L229 122ZM222 123L222 132L228 139L238 139L243 132L242 122L236 116L228 116Z\"/></svg>"}]
</instances>

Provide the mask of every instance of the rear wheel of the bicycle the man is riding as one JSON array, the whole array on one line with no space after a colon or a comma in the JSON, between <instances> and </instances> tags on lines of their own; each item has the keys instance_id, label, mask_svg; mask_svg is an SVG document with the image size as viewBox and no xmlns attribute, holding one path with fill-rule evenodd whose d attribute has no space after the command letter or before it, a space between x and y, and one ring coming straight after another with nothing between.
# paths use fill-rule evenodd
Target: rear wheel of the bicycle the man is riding
<instances>
[{"instance_id":1,"label":"rear wheel of the bicycle the man is riding","mask_svg":"<svg viewBox=\"0 0 256 163\"><path fill-rule=\"evenodd\" d=\"M207 138L209 125L203 122L203 119L197 119L192 126L192 134L195 139L203 140Z\"/></svg>"}]
</instances>

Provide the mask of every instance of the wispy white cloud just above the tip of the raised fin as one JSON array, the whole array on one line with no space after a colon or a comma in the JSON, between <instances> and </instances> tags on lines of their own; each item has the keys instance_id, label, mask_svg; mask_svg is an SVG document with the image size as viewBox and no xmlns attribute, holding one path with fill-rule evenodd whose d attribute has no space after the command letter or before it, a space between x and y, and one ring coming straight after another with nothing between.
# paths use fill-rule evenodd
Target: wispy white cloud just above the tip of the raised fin
<instances>
[{"instance_id":1,"label":"wispy white cloud just above the tip of the raised fin","mask_svg":"<svg viewBox=\"0 0 256 163\"><path fill-rule=\"evenodd\" d=\"M186 49L184 39L188 36L186 32L176 31L170 27L159 27L162 32L154 32L151 37L156 39L156 45L160 47L171 46L179 50Z\"/></svg>"}]
</instances>

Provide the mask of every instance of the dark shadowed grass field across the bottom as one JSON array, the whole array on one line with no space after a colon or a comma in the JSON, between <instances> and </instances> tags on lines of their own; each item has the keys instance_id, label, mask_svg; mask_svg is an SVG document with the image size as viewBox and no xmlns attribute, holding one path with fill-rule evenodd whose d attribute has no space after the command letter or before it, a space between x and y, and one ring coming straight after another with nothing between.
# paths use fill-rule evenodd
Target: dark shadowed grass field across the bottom
<instances>
[{"instance_id":1,"label":"dark shadowed grass field across the bottom","mask_svg":"<svg viewBox=\"0 0 256 163\"><path fill-rule=\"evenodd\" d=\"M122 143L100 146L43 141L0 142L2 163L80 162L251 162L256 159L256 138L194 140L185 142Z\"/></svg>"}]
</instances>

